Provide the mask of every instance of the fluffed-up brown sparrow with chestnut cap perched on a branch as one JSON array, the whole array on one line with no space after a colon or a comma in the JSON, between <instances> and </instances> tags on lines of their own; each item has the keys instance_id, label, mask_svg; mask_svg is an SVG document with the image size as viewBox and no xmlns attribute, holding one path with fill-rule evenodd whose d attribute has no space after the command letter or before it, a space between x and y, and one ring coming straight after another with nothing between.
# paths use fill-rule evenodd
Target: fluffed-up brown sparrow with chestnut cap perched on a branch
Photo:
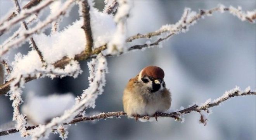
<instances>
[{"instance_id":1,"label":"fluffed-up brown sparrow with chestnut cap perched on a branch","mask_svg":"<svg viewBox=\"0 0 256 140\"><path fill-rule=\"evenodd\" d=\"M164 82L164 71L147 66L131 78L123 92L123 108L128 118L137 121L140 116L155 116L171 107L171 92Z\"/></svg>"}]
</instances>

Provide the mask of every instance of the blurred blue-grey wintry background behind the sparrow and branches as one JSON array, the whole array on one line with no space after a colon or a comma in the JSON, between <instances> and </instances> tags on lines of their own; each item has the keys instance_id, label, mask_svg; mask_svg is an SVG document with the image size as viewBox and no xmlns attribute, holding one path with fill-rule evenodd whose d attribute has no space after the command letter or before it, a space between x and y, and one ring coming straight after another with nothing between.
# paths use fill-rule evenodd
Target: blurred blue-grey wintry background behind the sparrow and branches
<instances>
[{"instance_id":1,"label":"blurred blue-grey wintry background behind the sparrow and branches","mask_svg":"<svg viewBox=\"0 0 256 140\"><path fill-rule=\"evenodd\" d=\"M22 0L21 5L28 1ZM175 24L182 16L183 9L190 7L210 9L218 3L225 6L241 6L242 10L254 10L256 1L153 1L134 2L128 19L128 35L155 31L165 24ZM95 1L95 7L104 8L103 1ZM1 18L11 10L11 0L0 0ZM69 17L64 17L60 29L79 19L78 5L74 6ZM41 19L49 14L45 12ZM1 36L2 43L10 33ZM49 35L50 28L45 31ZM109 74L106 75L105 91L96 100L93 112L123 111L122 95L128 80L148 65L156 65L164 69L166 87L172 92L171 109L188 107L190 104L201 104L207 99L220 97L225 90L236 85L244 90L251 86L256 88L256 24L242 22L228 13L214 13L211 17L200 19L191 26L187 33L181 33L164 42L162 48L154 47L144 51L132 51L118 57L109 57ZM144 43L139 40L137 43ZM131 45L131 44L128 44ZM14 49L7 56L10 62L17 52L27 54L31 49L28 43ZM23 99L29 92L37 96L53 93L71 92L81 95L88 87L87 61L81 61L83 73L78 78L54 79L43 78L25 84ZM0 125L12 120L12 102L9 97L0 97ZM200 115L192 112L185 115L185 122L174 121L173 118L159 119L158 122L135 122L133 119L107 119L82 122L68 128L68 140L255 140L256 139L256 97L234 97L219 107L211 108L206 126L199 123ZM25 140L19 133L0 137L1 140ZM59 135L50 134L49 140L59 140Z\"/></svg>"}]
</instances>

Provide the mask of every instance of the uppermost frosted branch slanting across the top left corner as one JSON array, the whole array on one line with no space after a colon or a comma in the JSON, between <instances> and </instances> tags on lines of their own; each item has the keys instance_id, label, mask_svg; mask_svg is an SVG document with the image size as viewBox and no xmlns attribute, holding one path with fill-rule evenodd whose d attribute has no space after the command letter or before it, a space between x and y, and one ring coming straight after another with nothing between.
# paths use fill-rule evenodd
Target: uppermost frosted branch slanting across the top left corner
<instances>
[{"instance_id":1,"label":"uppermost frosted branch slanting across the top left corner","mask_svg":"<svg viewBox=\"0 0 256 140\"><path fill-rule=\"evenodd\" d=\"M36 5L31 9L22 10L22 12L17 15L16 17L12 18L10 21L1 23L0 26L0 35L8 31L12 26L17 24L18 22L26 19L27 17L31 16L32 14L39 13L41 10L45 9L48 5L50 5L53 1L52 0L45 0L42 3Z\"/></svg>"}]
</instances>

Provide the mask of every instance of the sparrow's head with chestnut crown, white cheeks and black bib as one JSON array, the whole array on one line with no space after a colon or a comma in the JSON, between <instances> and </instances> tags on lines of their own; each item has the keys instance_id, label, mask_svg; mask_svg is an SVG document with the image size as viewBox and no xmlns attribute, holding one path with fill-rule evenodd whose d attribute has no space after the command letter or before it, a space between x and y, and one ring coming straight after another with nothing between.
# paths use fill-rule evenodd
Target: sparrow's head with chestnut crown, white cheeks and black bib
<instances>
[{"instance_id":1,"label":"sparrow's head with chestnut crown, white cheeks and black bib","mask_svg":"<svg viewBox=\"0 0 256 140\"><path fill-rule=\"evenodd\" d=\"M147 66L142 69L138 81L147 86L152 93L165 88L164 71L157 66Z\"/></svg>"}]
</instances>

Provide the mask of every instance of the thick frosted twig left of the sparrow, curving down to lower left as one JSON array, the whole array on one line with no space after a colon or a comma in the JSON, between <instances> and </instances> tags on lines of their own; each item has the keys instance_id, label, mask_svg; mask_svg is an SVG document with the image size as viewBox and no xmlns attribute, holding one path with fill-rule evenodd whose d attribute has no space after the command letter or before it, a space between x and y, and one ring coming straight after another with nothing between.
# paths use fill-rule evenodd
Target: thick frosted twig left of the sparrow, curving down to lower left
<instances>
[{"instance_id":1,"label":"thick frosted twig left of the sparrow, curving down to lower left","mask_svg":"<svg viewBox=\"0 0 256 140\"><path fill-rule=\"evenodd\" d=\"M65 121L70 121L85 107L95 107L95 100L98 95L103 92L103 86L105 86L106 83L105 74L107 73L106 58L102 54L99 54L96 60L97 66L95 66L96 70L94 81L88 89L83 91L81 100L76 102L71 109L66 110L62 116L53 118L50 123L38 127L38 129L32 134L32 140L38 140L39 138L48 136L54 127L62 125Z\"/></svg>"}]
</instances>

